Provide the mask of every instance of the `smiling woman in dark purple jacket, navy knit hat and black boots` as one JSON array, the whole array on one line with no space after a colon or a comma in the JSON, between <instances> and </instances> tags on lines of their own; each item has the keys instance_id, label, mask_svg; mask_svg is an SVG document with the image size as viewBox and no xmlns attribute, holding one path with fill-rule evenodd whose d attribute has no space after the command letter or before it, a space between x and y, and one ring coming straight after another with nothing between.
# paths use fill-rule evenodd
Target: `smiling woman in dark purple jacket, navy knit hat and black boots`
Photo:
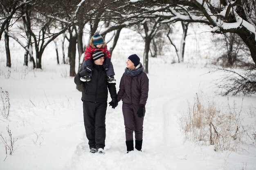
<instances>
[{"instance_id":1,"label":"smiling woman in dark purple jacket, navy knit hat and black boots","mask_svg":"<svg viewBox=\"0 0 256 170\"><path fill-rule=\"evenodd\" d=\"M148 99L148 76L143 71L136 54L130 55L126 62L117 93L117 100L121 99L127 153L133 150L133 132L135 132L135 148L141 151L145 105Z\"/></svg>"}]
</instances>

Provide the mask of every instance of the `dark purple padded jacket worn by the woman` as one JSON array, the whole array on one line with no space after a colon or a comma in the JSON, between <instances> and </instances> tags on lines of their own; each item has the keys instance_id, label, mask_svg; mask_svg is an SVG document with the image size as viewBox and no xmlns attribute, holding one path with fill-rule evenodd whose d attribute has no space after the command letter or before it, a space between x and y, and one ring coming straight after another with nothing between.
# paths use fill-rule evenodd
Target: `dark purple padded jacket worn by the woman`
<instances>
[{"instance_id":1,"label":"dark purple padded jacket worn by the woman","mask_svg":"<svg viewBox=\"0 0 256 170\"><path fill-rule=\"evenodd\" d=\"M123 74L121 77L117 100L134 105L146 105L148 99L148 76L144 71L139 75L130 77Z\"/></svg>"}]
</instances>

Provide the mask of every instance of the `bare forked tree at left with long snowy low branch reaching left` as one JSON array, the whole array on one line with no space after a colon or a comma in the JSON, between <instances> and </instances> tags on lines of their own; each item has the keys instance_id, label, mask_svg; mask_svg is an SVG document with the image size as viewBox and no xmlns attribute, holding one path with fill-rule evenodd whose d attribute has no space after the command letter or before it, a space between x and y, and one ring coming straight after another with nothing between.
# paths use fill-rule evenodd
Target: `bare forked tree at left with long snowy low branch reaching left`
<instances>
[{"instance_id":1,"label":"bare forked tree at left with long snowy low branch reaching left","mask_svg":"<svg viewBox=\"0 0 256 170\"><path fill-rule=\"evenodd\" d=\"M34 50L36 51L36 68L42 68L42 55L46 46L58 37L58 35L64 33L68 29L68 26L73 23L72 21L76 17L76 11L81 7L79 2L83 2L83 0L72 2L59 0L58 3L51 0L31 0L29 6L22 9L23 13L25 13L25 15L22 15L23 23L25 24L23 33L27 35L27 45L22 44L19 39L20 37L25 38L23 34L17 37L9 31L8 35L20 43L31 58L33 58L33 53L31 53L30 48L33 44ZM67 15L70 16L69 20L63 20ZM65 27L60 30L59 24L62 22L65 22Z\"/></svg>"}]
</instances>

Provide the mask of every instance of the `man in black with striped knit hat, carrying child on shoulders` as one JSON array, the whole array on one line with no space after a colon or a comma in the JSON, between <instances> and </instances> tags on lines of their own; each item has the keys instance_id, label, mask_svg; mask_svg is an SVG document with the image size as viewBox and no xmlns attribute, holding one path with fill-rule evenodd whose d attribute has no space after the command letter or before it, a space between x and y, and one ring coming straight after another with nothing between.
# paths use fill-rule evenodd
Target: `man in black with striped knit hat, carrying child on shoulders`
<instances>
[{"instance_id":1,"label":"man in black with striped knit hat, carrying child on shoulders","mask_svg":"<svg viewBox=\"0 0 256 170\"><path fill-rule=\"evenodd\" d=\"M104 154L108 90L112 98L109 103L112 108L118 105L117 90L116 83L107 82L104 53L101 50L94 51L92 60L94 76L92 76L91 81L82 82L80 80L87 74L85 69L76 74L74 82L76 85L82 84L83 120L90 152Z\"/></svg>"}]
</instances>

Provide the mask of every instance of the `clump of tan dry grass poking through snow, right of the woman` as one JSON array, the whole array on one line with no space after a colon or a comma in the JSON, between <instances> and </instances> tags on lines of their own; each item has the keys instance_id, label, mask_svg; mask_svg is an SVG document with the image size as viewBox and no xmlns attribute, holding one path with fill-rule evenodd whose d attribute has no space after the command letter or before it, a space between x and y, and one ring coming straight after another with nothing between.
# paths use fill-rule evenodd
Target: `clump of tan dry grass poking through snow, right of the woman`
<instances>
[{"instance_id":1,"label":"clump of tan dry grass poking through snow, right of the woman","mask_svg":"<svg viewBox=\"0 0 256 170\"><path fill-rule=\"evenodd\" d=\"M237 109L234 103L232 107L227 104L220 108L202 93L196 94L193 104L188 102L188 105L187 113L180 119L185 141L214 145L216 151L239 149L239 143L249 129L241 124L242 107Z\"/></svg>"}]
</instances>

